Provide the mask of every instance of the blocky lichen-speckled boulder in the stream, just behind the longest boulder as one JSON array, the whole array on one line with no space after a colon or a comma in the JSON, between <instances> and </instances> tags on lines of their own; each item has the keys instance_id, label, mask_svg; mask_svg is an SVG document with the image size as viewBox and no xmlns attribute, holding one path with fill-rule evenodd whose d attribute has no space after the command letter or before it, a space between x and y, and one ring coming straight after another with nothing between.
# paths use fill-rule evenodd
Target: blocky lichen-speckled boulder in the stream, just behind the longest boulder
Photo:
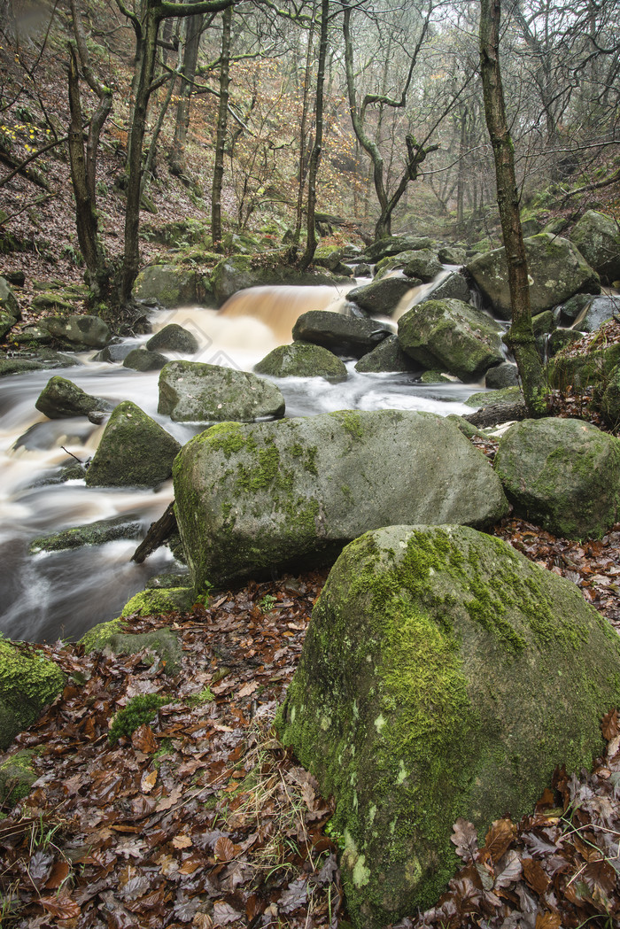
<instances>
[{"instance_id":1,"label":"blocky lichen-speckled boulder in the stream, just behind the longest boulder","mask_svg":"<svg viewBox=\"0 0 620 929\"><path fill-rule=\"evenodd\" d=\"M159 375L157 410L178 423L251 423L284 416L284 397L256 374L201 361L168 361Z\"/></svg>"}]
</instances>

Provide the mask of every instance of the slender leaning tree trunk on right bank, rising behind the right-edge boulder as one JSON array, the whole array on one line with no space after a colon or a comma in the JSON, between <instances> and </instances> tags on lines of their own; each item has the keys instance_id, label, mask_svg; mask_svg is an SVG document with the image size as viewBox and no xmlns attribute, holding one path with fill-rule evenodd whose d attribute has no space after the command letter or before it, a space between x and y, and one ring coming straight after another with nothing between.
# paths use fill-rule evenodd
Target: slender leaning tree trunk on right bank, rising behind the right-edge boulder
<instances>
[{"instance_id":1,"label":"slender leaning tree trunk on right bank, rising behind the right-edge boulder","mask_svg":"<svg viewBox=\"0 0 620 929\"><path fill-rule=\"evenodd\" d=\"M517 361L527 410L530 415L541 415L545 412L545 387L532 330L530 284L519 214L514 148L506 120L499 65L500 17L500 0L481 0L480 53L484 115L495 158L497 205L508 263L512 307L512 322L505 341Z\"/></svg>"}]
</instances>

